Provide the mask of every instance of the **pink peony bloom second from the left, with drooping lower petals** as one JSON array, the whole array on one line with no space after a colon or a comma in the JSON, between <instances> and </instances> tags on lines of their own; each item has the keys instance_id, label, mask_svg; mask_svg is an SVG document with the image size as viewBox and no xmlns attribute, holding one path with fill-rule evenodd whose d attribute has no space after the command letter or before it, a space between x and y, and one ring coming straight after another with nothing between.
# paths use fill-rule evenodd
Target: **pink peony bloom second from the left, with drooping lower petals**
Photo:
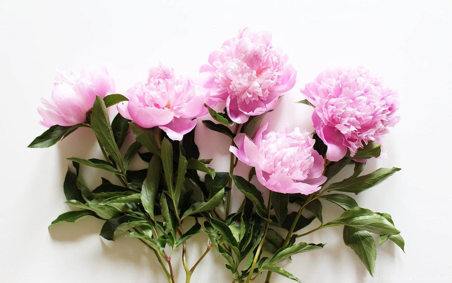
<instances>
[{"instance_id":1,"label":"pink peony bloom second from the left, with drooping lower petals","mask_svg":"<svg viewBox=\"0 0 452 283\"><path fill-rule=\"evenodd\" d=\"M197 120L207 114L208 95L196 91L190 77L176 77L163 66L149 70L147 82L139 82L125 95L129 101L118 104L118 111L143 128L159 126L170 139L181 140L193 130Z\"/></svg>"}]
</instances>

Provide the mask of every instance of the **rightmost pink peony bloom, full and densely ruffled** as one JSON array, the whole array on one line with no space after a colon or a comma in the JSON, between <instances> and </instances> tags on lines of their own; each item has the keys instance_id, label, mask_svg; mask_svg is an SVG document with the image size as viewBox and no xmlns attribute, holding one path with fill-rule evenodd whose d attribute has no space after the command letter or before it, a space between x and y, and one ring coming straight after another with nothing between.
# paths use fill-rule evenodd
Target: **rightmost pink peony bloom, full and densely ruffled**
<instances>
[{"instance_id":1,"label":"rightmost pink peony bloom, full and densely ruffled","mask_svg":"<svg viewBox=\"0 0 452 283\"><path fill-rule=\"evenodd\" d=\"M364 67L325 70L301 92L315 106L312 122L328 146L326 157L353 157L370 140L381 143L400 119L398 94Z\"/></svg>"}]
</instances>

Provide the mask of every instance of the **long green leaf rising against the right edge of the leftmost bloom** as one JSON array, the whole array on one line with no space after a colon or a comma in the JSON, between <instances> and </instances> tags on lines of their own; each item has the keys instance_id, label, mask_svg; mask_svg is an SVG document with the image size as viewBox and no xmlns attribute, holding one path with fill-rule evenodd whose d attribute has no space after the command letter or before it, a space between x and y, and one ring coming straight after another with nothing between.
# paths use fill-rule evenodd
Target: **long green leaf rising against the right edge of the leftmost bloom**
<instances>
[{"instance_id":1,"label":"long green leaf rising against the right edge of the leftmost bloom","mask_svg":"<svg viewBox=\"0 0 452 283\"><path fill-rule=\"evenodd\" d=\"M119 153L118 145L113 136L113 130L110 126L110 120L107 114L105 103L99 96L96 96L94 101L93 113L91 115L91 129L99 140L100 144L104 146L105 151L118 164L119 168L124 169L122 164L122 157Z\"/></svg>"}]
</instances>

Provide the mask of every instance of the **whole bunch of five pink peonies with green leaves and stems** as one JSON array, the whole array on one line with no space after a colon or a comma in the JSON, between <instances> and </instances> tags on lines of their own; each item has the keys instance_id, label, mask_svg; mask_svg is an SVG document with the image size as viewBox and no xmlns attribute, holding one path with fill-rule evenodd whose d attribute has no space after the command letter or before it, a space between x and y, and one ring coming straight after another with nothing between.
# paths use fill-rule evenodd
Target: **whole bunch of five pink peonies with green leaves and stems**
<instances>
[{"instance_id":1,"label":"whole bunch of five pink peonies with green leaves and stems","mask_svg":"<svg viewBox=\"0 0 452 283\"><path fill-rule=\"evenodd\" d=\"M367 159L385 155L382 137L399 120L397 92L364 67L328 69L301 89L306 99L298 101L314 108L315 131L288 126L273 131L261 122L278 97L294 86L296 75L287 55L273 47L271 34L249 29L213 51L194 81L160 64L149 70L146 82L121 95L115 94L104 66L80 74L60 72L52 96L43 97L43 107L38 108L40 123L48 130L29 147L52 146L77 128L88 127L103 159L67 158L75 172L68 169L63 190L66 203L78 210L61 214L49 228L85 216L103 219L102 237L138 238L172 283L172 254L178 248L186 282L211 249L224 259L232 282L250 282L264 272L265 282L271 281L272 273L300 282L278 263L324 246L305 243L303 236L342 225L345 245L373 274L372 233L379 235L380 245L391 240L404 249L404 240L389 214L361 208L343 192L358 194L400 170L379 168L361 174ZM110 122L111 106L119 113ZM202 124L231 139L229 172L216 172L208 167L212 159L199 159L195 127L197 118L207 114L213 121ZM126 149L123 142L130 131L135 139ZM149 166L130 170L138 157ZM249 173L234 172L239 160L251 167ZM90 188L80 164L113 173L118 180L102 178L98 187ZM331 183L348 164L354 165L353 174ZM250 182L254 176L269 190L268 200ZM230 209L233 186L244 195L237 211ZM322 201L344 212L325 223ZM298 206L297 211L289 212L289 203ZM194 218L191 227L188 218ZM303 230L315 219L317 228ZM188 240L201 231L208 239L205 252L188 266Z\"/></svg>"}]
</instances>

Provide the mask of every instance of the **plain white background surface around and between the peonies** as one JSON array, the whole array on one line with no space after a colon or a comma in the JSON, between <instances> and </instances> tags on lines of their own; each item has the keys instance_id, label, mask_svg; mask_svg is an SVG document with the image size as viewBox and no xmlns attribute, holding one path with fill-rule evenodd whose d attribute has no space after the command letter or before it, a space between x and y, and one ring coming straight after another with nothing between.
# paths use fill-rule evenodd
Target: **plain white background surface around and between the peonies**
<instances>
[{"instance_id":1,"label":"plain white background surface around and between the peonies","mask_svg":"<svg viewBox=\"0 0 452 283\"><path fill-rule=\"evenodd\" d=\"M406 254L390 241L377 246L375 278L452 281L451 1L154 2L1 1L1 282L164 282L154 255L138 240L100 238L100 220L84 218L47 230L70 209L63 204L65 158L101 154L85 129L48 149L26 148L45 130L36 123L36 107L41 96L51 93L54 69L80 70L103 61L117 92L124 93L145 80L147 69L159 61L178 73L196 75L209 53L245 26L272 31L274 45L289 55L298 72L295 87L267 116L274 130L282 130L286 122L312 130L311 108L294 102L302 99L299 89L327 67L364 64L399 91L402 119L384 143L390 158L368 162L365 172L393 166L402 170L356 197L362 207L390 213L406 242ZM196 134L201 157L214 158L212 166L227 171L225 136L202 124ZM144 168L144 163L135 165ZM98 171L83 169L92 186L99 183ZM243 164L236 170L248 173ZM241 196L233 194L236 207ZM341 212L326 203L324 211L327 221ZM202 234L195 239L189 242L189 265L206 242ZM370 280L363 278L366 269L344 245L341 227L305 240L327 244L283 263L303 282ZM183 282L183 268L175 269ZM228 272L210 252L192 282L231 282ZM274 275L273 282L292 281Z\"/></svg>"}]
</instances>

